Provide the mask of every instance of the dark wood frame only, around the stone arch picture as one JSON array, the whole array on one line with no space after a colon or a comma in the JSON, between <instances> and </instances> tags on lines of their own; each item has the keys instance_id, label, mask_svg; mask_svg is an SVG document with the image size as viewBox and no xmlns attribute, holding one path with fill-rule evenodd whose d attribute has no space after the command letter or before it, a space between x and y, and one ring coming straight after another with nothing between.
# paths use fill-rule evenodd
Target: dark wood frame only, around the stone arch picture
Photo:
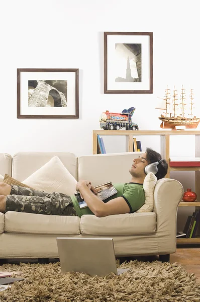
<instances>
[{"instance_id":1,"label":"dark wood frame only, around the stone arch picture","mask_svg":"<svg viewBox=\"0 0 200 302\"><path fill-rule=\"evenodd\" d=\"M75 114L21 114L21 72L74 72L75 73ZM52 79L56 80L56 79ZM27 95L28 102L28 95ZM68 102L68 100L67 100ZM17 69L17 118L79 118L79 69L78 68L18 68Z\"/></svg>"}]
</instances>

